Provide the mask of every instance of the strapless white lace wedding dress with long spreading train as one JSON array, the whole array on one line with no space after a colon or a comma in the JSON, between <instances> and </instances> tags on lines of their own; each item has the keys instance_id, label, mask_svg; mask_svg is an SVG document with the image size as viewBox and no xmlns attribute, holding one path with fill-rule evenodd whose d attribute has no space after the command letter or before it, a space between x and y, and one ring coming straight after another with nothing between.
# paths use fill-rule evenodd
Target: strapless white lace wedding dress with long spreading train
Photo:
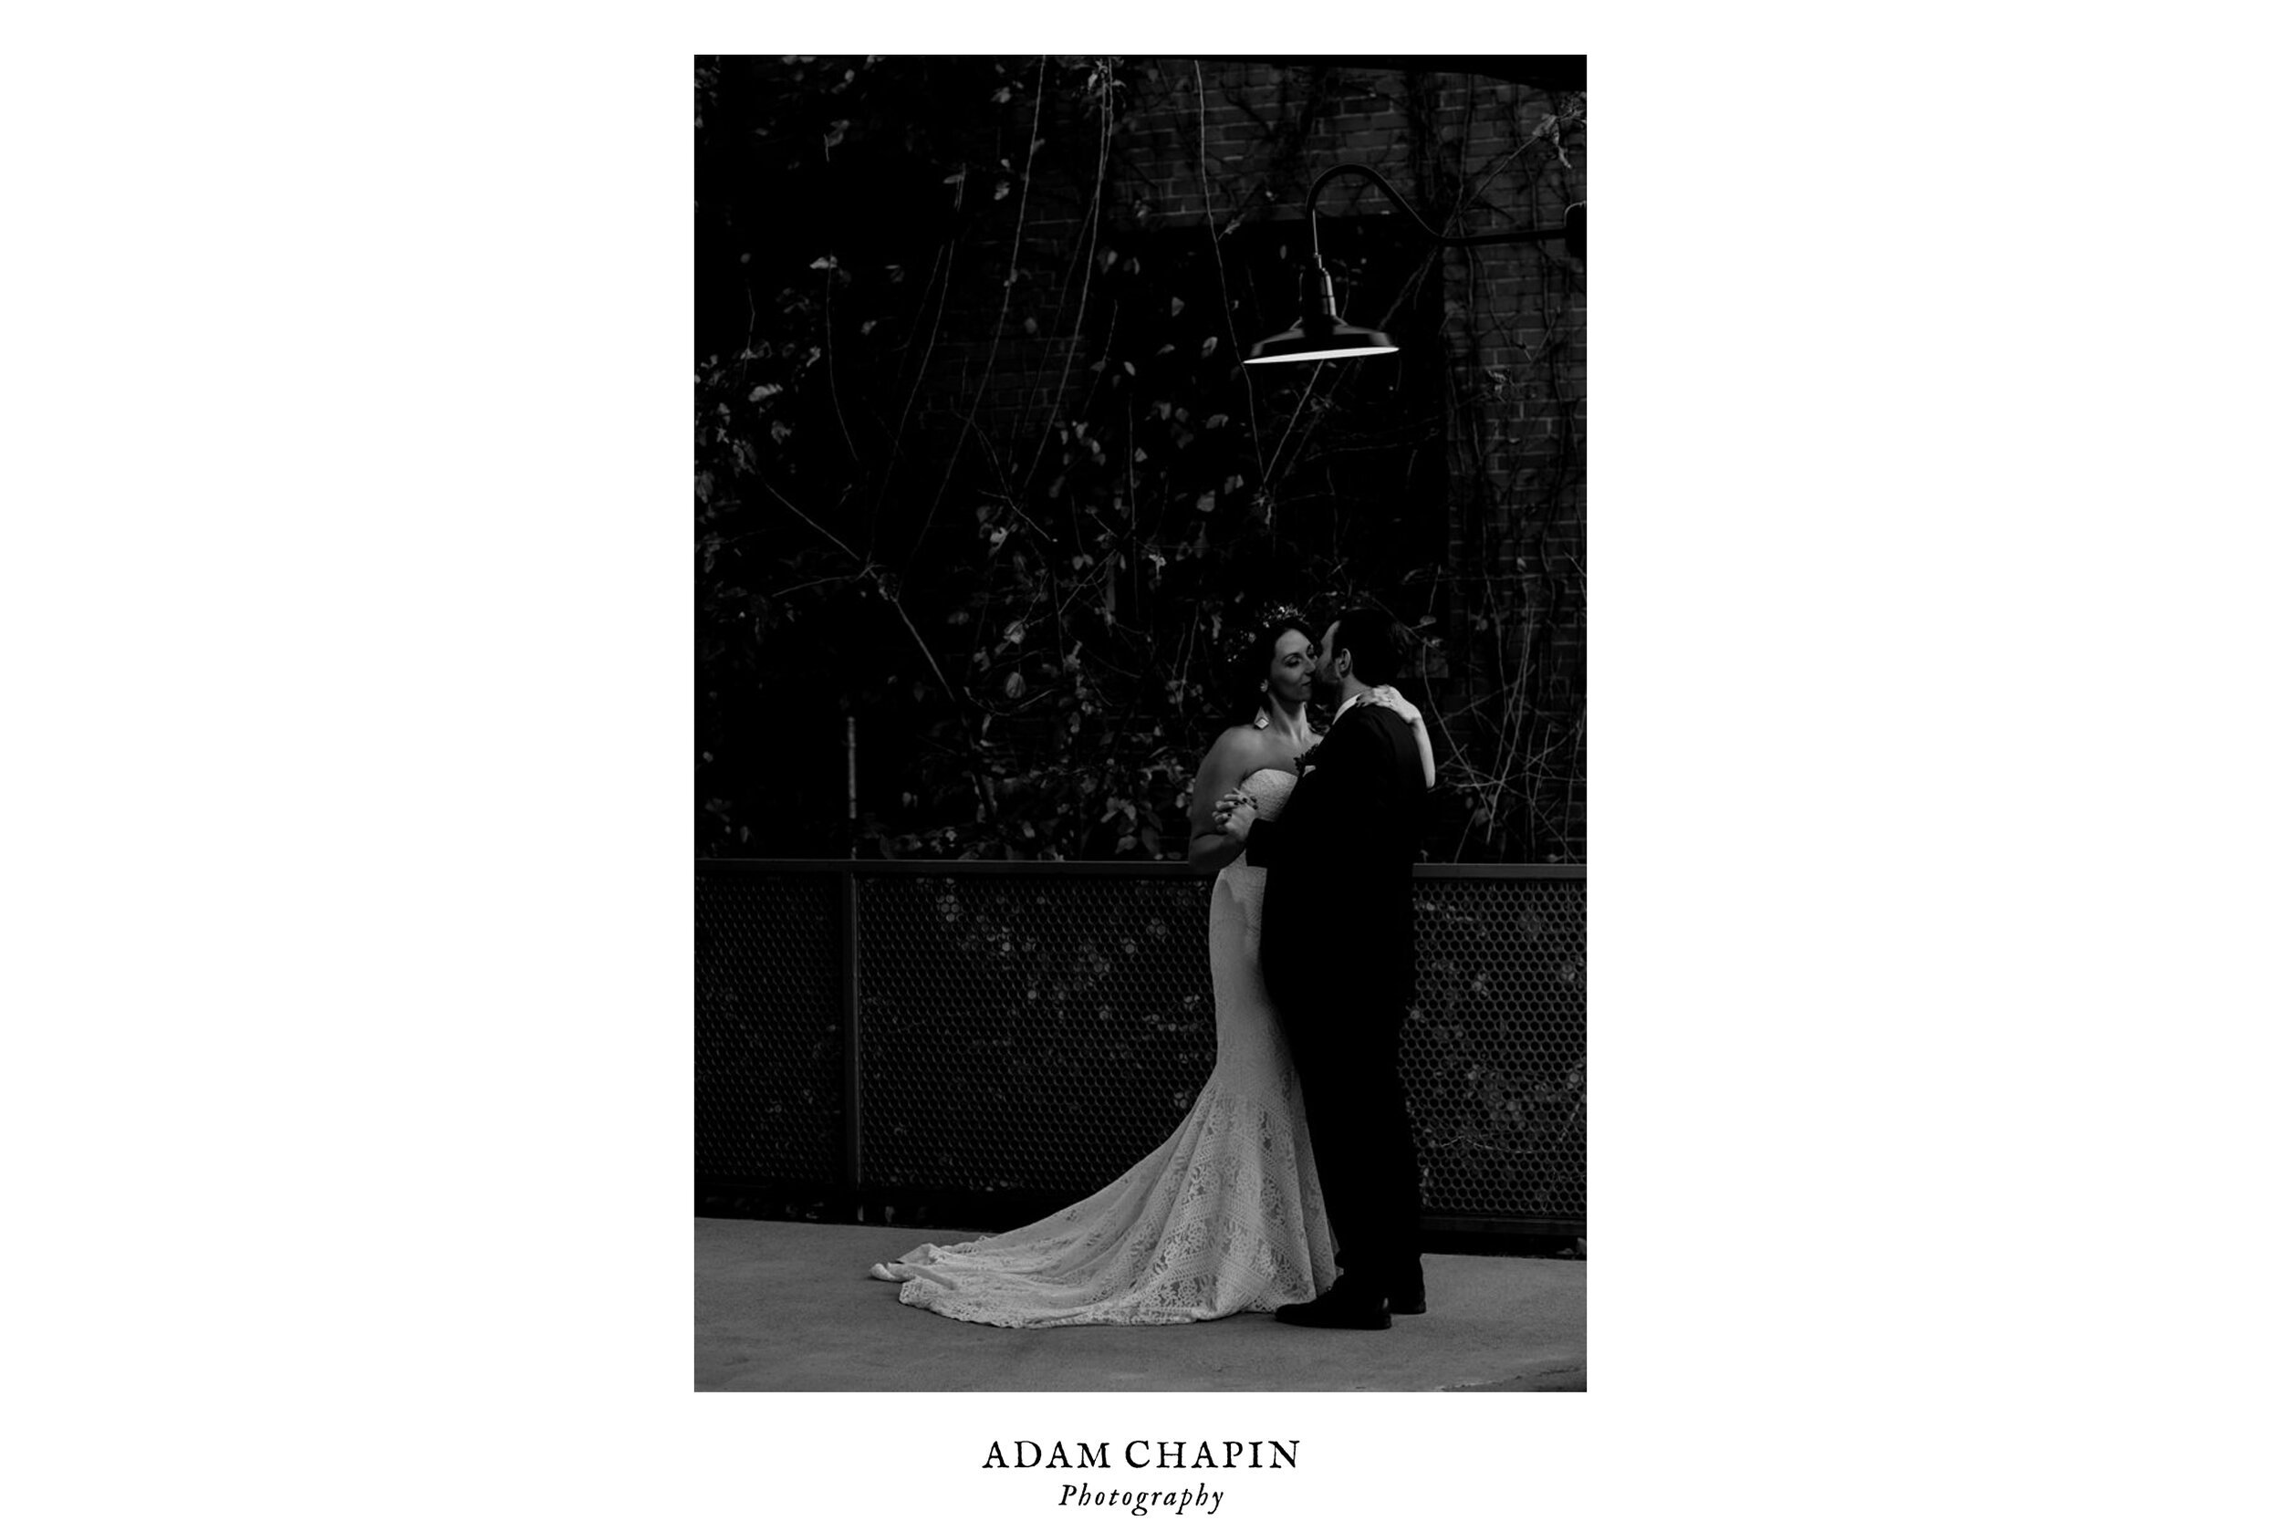
<instances>
[{"instance_id":1,"label":"strapless white lace wedding dress with long spreading train","mask_svg":"<svg viewBox=\"0 0 2281 1521\"><path fill-rule=\"evenodd\" d=\"M1273 819L1298 778L1243 784ZM903 1304L985 1325L1170 1325L1312 1300L1337 1277L1291 1049L1259 976L1266 871L1211 889L1218 1060L1179 1129L1125 1177L1004 1236L924 1245L871 1277Z\"/></svg>"}]
</instances>

